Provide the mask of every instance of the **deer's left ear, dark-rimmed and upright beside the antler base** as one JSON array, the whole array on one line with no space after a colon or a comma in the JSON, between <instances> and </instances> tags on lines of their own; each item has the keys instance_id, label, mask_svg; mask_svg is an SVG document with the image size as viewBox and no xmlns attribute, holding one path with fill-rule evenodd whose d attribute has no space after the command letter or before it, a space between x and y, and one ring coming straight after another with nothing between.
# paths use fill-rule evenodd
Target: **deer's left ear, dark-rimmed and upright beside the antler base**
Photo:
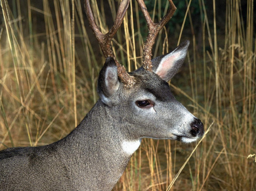
<instances>
[{"instance_id":1,"label":"deer's left ear, dark-rimmed and upright beside the antler base","mask_svg":"<svg viewBox=\"0 0 256 191\"><path fill-rule=\"evenodd\" d=\"M111 104L111 96L116 94L119 85L116 62L107 57L98 79L98 93L103 103Z\"/></svg>"}]
</instances>

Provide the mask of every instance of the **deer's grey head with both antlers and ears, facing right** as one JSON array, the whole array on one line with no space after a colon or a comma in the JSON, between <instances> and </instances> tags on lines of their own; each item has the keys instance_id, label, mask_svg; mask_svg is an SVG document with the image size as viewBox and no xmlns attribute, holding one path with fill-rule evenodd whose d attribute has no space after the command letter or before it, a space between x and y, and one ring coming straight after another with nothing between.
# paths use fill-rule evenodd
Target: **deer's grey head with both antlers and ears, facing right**
<instances>
[{"instance_id":1,"label":"deer's grey head with both antlers and ears, facing right","mask_svg":"<svg viewBox=\"0 0 256 191\"><path fill-rule=\"evenodd\" d=\"M100 99L111 113L120 114L116 118L120 117L119 120L129 126L126 132L129 139L151 137L195 141L204 134L203 124L174 98L167 83L182 65L189 41L181 43L173 52L151 60L156 35L171 19L176 7L169 0L167 14L160 22L154 23L145 3L142 0L137 2L147 20L149 33L143 49L142 67L128 74L113 55L111 39L122 23L129 0L120 3L114 25L105 35L96 25L89 0L85 0L89 24L106 57L98 80Z\"/></svg>"}]
</instances>

